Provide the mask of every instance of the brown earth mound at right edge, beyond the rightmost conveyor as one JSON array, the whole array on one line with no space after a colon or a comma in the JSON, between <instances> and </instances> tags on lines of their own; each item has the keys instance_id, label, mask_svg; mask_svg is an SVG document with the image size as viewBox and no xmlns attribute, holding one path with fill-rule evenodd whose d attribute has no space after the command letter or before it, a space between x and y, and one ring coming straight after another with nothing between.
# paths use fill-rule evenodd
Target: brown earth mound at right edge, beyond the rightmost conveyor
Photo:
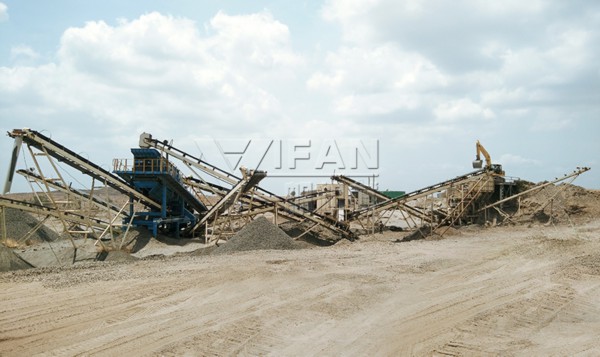
<instances>
[{"instance_id":1,"label":"brown earth mound at right edge, beyond the rightmost conveyor","mask_svg":"<svg viewBox=\"0 0 600 357\"><path fill-rule=\"evenodd\" d=\"M519 221L589 221L600 216L600 191L572 184L549 185L525 195L515 215Z\"/></svg>"}]
</instances>

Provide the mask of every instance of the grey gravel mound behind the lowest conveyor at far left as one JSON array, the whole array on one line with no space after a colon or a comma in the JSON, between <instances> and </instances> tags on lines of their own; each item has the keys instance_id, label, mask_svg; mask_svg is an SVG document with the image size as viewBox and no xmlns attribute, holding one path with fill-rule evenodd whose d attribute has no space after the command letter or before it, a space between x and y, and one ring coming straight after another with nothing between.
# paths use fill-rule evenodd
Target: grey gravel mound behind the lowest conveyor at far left
<instances>
[{"instance_id":1,"label":"grey gravel mound behind the lowest conveyor at far left","mask_svg":"<svg viewBox=\"0 0 600 357\"><path fill-rule=\"evenodd\" d=\"M21 239L27 232L40 223L31 214L13 208L5 208L4 215L6 219L6 237L15 241ZM56 232L42 225L42 227L31 235L29 240L35 242L53 242L59 238L60 236Z\"/></svg>"}]
</instances>

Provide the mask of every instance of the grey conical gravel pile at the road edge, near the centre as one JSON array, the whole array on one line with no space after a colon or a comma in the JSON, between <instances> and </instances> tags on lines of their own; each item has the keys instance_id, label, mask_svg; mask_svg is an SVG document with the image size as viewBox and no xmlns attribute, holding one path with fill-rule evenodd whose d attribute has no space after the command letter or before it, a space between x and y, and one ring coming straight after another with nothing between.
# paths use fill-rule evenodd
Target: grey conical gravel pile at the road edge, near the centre
<instances>
[{"instance_id":1,"label":"grey conical gravel pile at the road edge, near the centre","mask_svg":"<svg viewBox=\"0 0 600 357\"><path fill-rule=\"evenodd\" d=\"M299 249L290 236L265 217L258 217L244 226L226 244L214 250L215 254L248 250Z\"/></svg>"}]
</instances>

